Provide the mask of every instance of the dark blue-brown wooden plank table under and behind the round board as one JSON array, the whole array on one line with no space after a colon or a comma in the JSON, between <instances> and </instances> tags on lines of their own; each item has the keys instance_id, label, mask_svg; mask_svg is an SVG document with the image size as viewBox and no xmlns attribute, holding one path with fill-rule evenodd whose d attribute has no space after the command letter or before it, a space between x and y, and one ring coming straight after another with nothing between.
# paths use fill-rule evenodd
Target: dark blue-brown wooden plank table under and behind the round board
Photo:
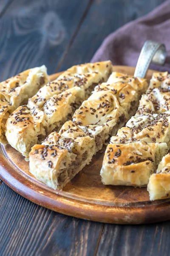
<instances>
[{"instance_id":1,"label":"dark blue-brown wooden plank table under and behind the round board","mask_svg":"<svg viewBox=\"0 0 170 256\"><path fill-rule=\"evenodd\" d=\"M42 64L52 74L88 62L110 32L162 2L0 0L0 81ZM0 181L0 256L166 256L169 251L170 221L121 226L72 218L33 204Z\"/></svg>"}]
</instances>

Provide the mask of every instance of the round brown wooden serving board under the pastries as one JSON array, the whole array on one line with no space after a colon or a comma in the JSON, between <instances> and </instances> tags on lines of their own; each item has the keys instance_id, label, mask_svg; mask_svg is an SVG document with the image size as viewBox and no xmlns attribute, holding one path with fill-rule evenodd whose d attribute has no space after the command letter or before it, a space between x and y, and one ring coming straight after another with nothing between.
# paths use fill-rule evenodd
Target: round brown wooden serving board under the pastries
<instances>
[{"instance_id":1,"label":"round brown wooden serving board under the pastries","mask_svg":"<svg viewBox=\"0 0 170 256\"><path fill-rule=\"evenodd\" d=\"M115 71L134 74L135 68L114 66ZM147 79L153 70L147 73ZM51 81L59 73L51 76ZM103 152L102 152L103 151ZM9 145L0 146L0 178L28 200L56 212L115 224L141 224L170 219L170 199L150 201L146 187L105 186L100 169L105 153L93 157L92 162L79 172L63 191L50 189L29 172L24 157Z\"/></svg>"}]
</instances>

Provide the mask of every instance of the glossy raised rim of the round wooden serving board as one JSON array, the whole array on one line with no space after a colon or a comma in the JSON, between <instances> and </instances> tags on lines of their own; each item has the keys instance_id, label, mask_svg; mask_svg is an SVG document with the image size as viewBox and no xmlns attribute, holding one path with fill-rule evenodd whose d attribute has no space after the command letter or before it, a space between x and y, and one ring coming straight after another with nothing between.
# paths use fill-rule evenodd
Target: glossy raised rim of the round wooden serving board
<instances>
[{"instance_id":1,"label":"glossy raised rim of the round wooden serving board","mask_svg":"<svg viewBox=\"0 0 170 256\"><path fill-rule=\"evenodd\" d=\"M130 70L132 67L113 66L113 70L121 72L121 69ZM148 70L150 76L156 70ZM53 81L63 72L53 74L50 80ZM34 186L30 180L17 172L8 162L3 154L0 154L0 178L15 192L24 198L56 212L76 218L83 218L91 221L99 221L113 224L146 224L170 219L170 204L162 202L160 204L150 204L143 207L113 207L85 203L79 200L65 198L61 195L50 192L51 196L46 196L47 190ZM65 203L67 202L67 207ZM145 212L143 211L145 209ZM126 213L126 214L125 214Z\"/></svg>"}]
</instances>

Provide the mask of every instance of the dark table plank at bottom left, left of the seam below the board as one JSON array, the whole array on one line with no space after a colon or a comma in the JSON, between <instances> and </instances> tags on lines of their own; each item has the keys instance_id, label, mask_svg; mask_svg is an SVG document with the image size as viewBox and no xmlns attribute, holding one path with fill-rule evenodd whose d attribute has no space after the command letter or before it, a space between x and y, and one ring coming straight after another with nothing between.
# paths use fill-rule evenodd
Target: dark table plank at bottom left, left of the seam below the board
<instances>
[{"instance_id":1,"label":"dark table plank at bottom left, left of the seam below the board","mask_svg":"<svg viewBox=\"0 0 170 256\"><path fill-rule=\"evenodd\" d=\"M93 256L102 224L45 209L0 187L1 256Z\"/></svg>"}]
</instances>

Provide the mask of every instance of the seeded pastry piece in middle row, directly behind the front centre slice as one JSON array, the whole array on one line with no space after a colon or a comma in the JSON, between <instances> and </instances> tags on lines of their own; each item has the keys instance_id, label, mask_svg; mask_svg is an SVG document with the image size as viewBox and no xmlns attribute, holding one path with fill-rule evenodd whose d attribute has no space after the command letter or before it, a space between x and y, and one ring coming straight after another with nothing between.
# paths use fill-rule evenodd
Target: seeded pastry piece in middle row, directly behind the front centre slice
<instances>
[{"instance_id":1,"label":"seeded pastry piece in middle row, directly behind the front centre slice","mask_svg":"<svg viewBox=\"0 0 170 256\"><path fill-rule=\"evenodd\" d=\"M147 89L145 79L117 72L113 72L108 81L96 86L73 116L73 122L94 137L97 150L132 116L141 94Z\"/></svg>"}]
</instances>

